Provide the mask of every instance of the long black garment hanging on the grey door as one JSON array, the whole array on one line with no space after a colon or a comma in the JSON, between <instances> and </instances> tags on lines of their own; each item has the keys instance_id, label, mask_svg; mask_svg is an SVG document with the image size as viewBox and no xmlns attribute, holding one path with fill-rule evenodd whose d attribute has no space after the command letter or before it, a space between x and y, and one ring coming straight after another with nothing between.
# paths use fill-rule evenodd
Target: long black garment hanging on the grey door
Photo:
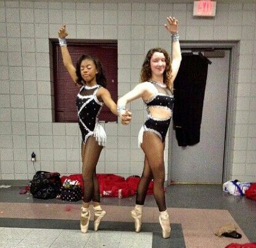
<instances>
[{"instance_id":1,"label":"long black garment hanging on the grey door","mask_svg":"<svg viewBox=\"0 0 256 248\"><path fill-rule=\"evenodd\" d=\"M174 80L173 125L179 146L200 142L204 91L211 61L201 53L182 53L179 72Z\"/></svg>"}]
</instances>

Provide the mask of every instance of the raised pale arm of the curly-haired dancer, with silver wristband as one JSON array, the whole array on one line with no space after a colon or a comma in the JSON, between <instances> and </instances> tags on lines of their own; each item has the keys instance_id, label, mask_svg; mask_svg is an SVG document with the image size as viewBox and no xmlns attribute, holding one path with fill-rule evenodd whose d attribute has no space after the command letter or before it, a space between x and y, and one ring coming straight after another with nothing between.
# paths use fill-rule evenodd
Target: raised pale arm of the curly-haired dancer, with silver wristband
<instances>
[{"instance_id":1,"label":"raised pale arm of the curly-haired dancer, with silver wristband","mask_svg":"<svg viewBox=\"0 0 256 248\"><path fill-rule=\"evenodd\" d=\"M165 24L166 29L171 33L172 39L172 83L177 76L179 71L180 62L182 60L179 44L179 29L178 29L178 20L176 18L167 17L168 25Z\"/></svg>"}]
</instances>

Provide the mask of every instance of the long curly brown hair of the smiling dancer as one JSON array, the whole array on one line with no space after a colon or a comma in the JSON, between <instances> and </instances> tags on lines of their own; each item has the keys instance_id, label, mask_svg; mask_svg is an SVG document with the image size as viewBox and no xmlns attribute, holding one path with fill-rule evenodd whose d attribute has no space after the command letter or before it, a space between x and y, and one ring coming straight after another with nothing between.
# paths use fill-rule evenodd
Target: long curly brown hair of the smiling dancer
<instances>
[{"instance_id":1,"label":"long curly brown hair of the smiling dancer","mask_svg":"<svg viewBox=\"0 0 256 248\"><path fill-rule=\"evenodd\" d=\"M152 77L152 71L150 67L150 60L152 55L155 53L163 53L165 55L165 60L166 60L166 68L165 71L163 72L163 82L166 84L166 86L169 88L169 90L173 90L173 83L171 82L172 76L172 69L171 69L171 58L169 57L168 52L166 52L165 49L157 47L157 48L152 48L147 52L147 55L145 56L145 60L142 64L141 68L141 82L146 82L151 79Z\"/></svg>"}]
</instances>

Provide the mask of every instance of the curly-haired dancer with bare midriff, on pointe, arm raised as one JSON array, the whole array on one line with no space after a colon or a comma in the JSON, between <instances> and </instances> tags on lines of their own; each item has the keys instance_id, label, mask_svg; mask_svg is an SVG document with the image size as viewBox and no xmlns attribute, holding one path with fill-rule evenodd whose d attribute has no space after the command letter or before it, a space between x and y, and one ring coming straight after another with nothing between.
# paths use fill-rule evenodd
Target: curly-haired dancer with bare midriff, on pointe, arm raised
<instances>
[{"instance_id":1,"label":"curly-haired dancer with bare midriff, on pointe, arm raised","mask_svg":"<svg viewBox=\"0 0 256 248\"><path fill-rule=\"evenodd\" d=\"M135 231L141 230L142 209L153 179L153 194L160 211L160 225L163 238L169 238L171 227L165 204L165 136L169 128L173 111L173 81L179 70L181 53L178 25L175 18L168 17L166 29L172 37L172 61L162 48L149 50L141 69L141 82L129 93L118 99L118 112L123 114L125 106L134 99L142 98L147 106L148 118L139 131L139 145L145 153L144 170L138 185L136 206L131 211L135 222Z\"/></svg>"}]
</instances>

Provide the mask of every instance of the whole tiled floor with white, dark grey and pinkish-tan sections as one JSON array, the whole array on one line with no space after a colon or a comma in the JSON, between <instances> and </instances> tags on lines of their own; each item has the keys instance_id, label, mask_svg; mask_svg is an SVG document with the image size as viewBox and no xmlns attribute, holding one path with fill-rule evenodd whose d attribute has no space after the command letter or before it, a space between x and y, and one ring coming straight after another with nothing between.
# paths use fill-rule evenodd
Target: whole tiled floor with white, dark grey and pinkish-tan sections
<instances>
[{"instance_id":1,"label":"whole tiled floor with white, dark grey and pinkish-tan sections","mask_svg":"<svg viewBox=\"0 0 256 248\"><path fill-rule=\"evenodd\" d=\"M135 197L102 198L107 211L98 232L79 231L80 202L37 200L19 187L0 188L0 247L225 247L256 241L256 202L222 192L220 185L173 185L166 191L171 238L161 238L158 209L147 196L141 233L134 233L130 210ZM242 239L219 238L214 231L236 223Z\"/></svg>"}]
</instances>

